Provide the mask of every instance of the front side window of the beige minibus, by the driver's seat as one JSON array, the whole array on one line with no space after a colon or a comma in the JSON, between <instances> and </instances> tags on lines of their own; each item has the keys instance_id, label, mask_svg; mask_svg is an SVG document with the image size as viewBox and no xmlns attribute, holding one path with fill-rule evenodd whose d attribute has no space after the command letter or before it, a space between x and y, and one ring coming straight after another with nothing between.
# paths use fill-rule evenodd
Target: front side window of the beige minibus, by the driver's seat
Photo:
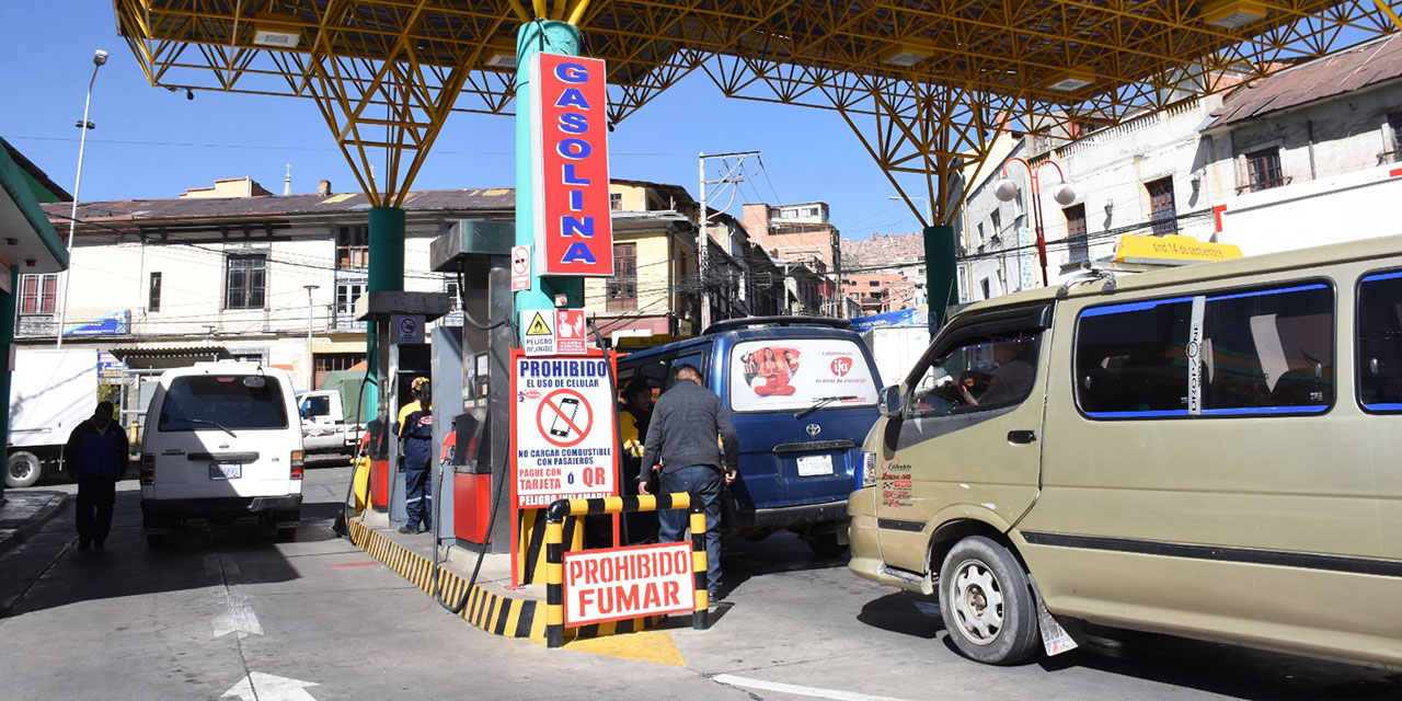
<instances>
[{"instance_id":1,"label":"front side window of the beige minibus, by the driver's seat","mask_svg":"<svg viewBox=\"0 0 1402 701\"><path fill-rule=\"evenodd\" d=\"M1040 334L979 336L952 348L920 373L916 414L949 414L1021 404L1036 384Z\"/></svg>"}]
</instances>

